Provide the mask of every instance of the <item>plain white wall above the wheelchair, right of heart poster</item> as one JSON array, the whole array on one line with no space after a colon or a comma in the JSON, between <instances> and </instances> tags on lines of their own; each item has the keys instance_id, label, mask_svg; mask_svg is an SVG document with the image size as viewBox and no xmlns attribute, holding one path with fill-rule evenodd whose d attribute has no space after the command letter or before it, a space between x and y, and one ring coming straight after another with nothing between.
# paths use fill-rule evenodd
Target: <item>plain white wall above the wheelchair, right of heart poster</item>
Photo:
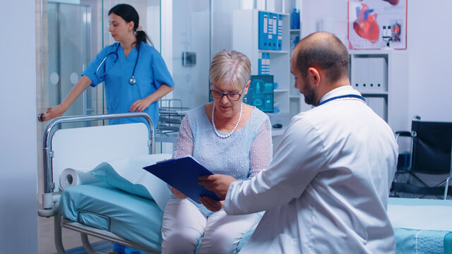
<instances>
[{"instance_id":1,"label":"plain white wall above the wheelchair, right of heart poster","mask_svg":"<svg viewBox=\"0 0 452 254\"><path fill-rule=\"evenodd\" d=\"M408 1L408 116L452 121L452 1Z\"/></svg>"}]
</instances>

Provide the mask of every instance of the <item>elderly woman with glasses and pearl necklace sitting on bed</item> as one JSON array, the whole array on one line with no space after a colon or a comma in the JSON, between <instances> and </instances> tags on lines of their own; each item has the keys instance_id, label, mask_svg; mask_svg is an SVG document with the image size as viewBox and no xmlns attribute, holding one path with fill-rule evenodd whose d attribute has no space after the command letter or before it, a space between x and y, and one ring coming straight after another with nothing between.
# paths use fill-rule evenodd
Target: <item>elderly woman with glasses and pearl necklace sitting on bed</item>
<instances>
[{"instance_id":1,"label":"elderly woman with glasses and pearl necklace sitting on bed","mask_svg":"<svg viewBox=\"0 0 452 254\"><path fill-rule=\"evenodd\" d=\"M242 53L219 52L210 63L213 102L191 109L182 120L174 157L190 155L214 174L244 180L272 158L271 126L262 111L242 102L251 63ZM261 214L210 212L172 188L162 222L162 253L232 253ZM202 237L202 239L201 239ZM201 239L201 243L199 243ZM198 246L199 244L199 246Z\"/></svg>"}]
</instances>

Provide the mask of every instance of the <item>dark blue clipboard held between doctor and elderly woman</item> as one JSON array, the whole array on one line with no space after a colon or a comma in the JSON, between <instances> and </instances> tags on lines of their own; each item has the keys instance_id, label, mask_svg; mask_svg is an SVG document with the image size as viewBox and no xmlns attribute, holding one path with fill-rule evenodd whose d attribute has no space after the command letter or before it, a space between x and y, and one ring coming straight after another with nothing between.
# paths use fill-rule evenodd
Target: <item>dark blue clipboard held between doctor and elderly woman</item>
<instances>
[{"instance_id":1,"label":"dark blue clipboard held between doctor and elderly woman","mask_svg":"<svg viewBox=\"0 0 452 254\"><path fill-rule=\"evenodd\" d=\"M220 200L218 196L208 189L198 184L199 176L213 174L203 165L196 162L193 157L182 157L179 159L169 159L163 162L143 167L146 171L165 181L170 186L184 193L187 197L201 204L199 197L209 197Z\"/></svg>"}]
</instances>

